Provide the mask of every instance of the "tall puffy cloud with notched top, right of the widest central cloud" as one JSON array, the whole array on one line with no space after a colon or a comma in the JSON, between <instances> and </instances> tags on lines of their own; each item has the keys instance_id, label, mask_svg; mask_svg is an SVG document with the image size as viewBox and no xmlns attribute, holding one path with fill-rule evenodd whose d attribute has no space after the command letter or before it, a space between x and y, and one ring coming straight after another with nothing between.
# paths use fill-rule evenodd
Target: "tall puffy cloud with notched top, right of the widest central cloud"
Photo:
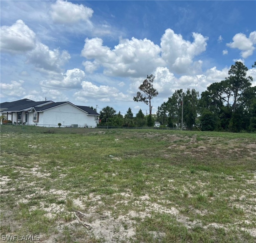
<instances>
[{"instance_id":1,"label":"tall puffy cloud with notched top, right of the widest central cloud","mask_svg":"<svg viewBox=\"0 0 256 243\"><path fill-rule=\"evenodd\" d=\"M195 56L206 50L208 37L202 34L192 33L194 41L183 40L181 34L175 34L172 29L166 29L161 38L162 58L168 63L172 72L186 73L192 70ZM196 67L200 67L199 62Z\"/></svg>"}]
</instances>

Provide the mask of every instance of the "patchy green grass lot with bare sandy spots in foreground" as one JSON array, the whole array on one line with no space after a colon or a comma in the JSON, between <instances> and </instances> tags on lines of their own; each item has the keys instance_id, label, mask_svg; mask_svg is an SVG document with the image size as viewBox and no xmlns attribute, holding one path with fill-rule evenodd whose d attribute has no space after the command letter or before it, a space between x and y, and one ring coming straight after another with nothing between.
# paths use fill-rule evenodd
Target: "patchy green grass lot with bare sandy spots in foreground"
<instances>
[{"instance_id":1,"label":"patchy green grass lot with bare sandy spots in foreground","mask_svg":"<svg viewBox=\"0 0 256 243\"><path fill-rule=\"evenodd\" d=\"M1 126L1 234L255 242L256 134Z\"/></svg>"}]
</instances>

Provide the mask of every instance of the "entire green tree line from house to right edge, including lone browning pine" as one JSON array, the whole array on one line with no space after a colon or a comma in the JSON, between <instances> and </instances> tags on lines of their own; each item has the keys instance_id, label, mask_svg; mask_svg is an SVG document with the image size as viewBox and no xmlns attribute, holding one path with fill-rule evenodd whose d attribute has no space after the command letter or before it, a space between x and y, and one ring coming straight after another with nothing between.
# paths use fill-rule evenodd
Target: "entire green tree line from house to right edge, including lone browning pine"
<instances>
[{"instance_id":1,"label":"entire green tree line from house to right edge, including lone browning pine","mask_svg":"<svg viewBox=\"0 0 256 243\"><path fill-rule=\"evenodd\" d=\"M256 62L253 67L256 67ZM256 86L251 86L253 78L246 76L248 68L242 62L235 62L228 71L228 77L213 83L201 93L195 89L175 90L168 101L158 106L152 114L152 98L158 95L153 88L154 76L150 75L139 86L135 102L149 105L150 114L144 115L140 109L134 116L131 108L121 115L112 107L100 111L100 126L152 127L154 121L161 126L202 131L256 131ZM183 108L183 109L182 109ZM182 113L183 110L183 113ZM182 124L183 119L183 124Z\"/></svg>"}]
</instances>

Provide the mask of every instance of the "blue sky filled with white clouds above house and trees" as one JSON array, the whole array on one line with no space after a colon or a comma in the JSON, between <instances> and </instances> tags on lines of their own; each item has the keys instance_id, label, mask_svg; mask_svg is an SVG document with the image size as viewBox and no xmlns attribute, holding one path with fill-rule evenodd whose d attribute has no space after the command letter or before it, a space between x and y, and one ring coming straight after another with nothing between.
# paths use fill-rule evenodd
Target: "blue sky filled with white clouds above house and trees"
<instances>
[{"instance_id":1,"label":"blue sky filled with white clouds above house and trees","mask_svg":"<svg viewBox=\"0 0 256 243\"><path fill-rule=\"evenodd\" d=\"M159 105L228 76L256 85L255 1L1 1L1 102L70 101L123 115L147 75Z\"/></svg>"}]
</instances>

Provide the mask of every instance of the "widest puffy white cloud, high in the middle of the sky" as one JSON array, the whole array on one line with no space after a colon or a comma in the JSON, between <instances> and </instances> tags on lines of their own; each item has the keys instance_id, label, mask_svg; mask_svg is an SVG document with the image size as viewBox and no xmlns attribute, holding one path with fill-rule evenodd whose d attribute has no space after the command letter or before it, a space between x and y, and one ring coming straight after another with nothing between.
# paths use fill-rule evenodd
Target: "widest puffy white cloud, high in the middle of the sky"
<instances>
[{"instance_id":1,"label":"widest puffy white cloud, high in the middle of the sky","mask_svg":"<svg viewBox=\"0 0 256 243\"><path fill-rule=\"evenodd\" d=\"M104 74L121 77L141 77L165 64L160 57L160 47L151 40L121 39L111 50L100 38L86 39L81 55L93 62L84 63L86 71L104 67Z\"/></svg>"}]
</instances>

